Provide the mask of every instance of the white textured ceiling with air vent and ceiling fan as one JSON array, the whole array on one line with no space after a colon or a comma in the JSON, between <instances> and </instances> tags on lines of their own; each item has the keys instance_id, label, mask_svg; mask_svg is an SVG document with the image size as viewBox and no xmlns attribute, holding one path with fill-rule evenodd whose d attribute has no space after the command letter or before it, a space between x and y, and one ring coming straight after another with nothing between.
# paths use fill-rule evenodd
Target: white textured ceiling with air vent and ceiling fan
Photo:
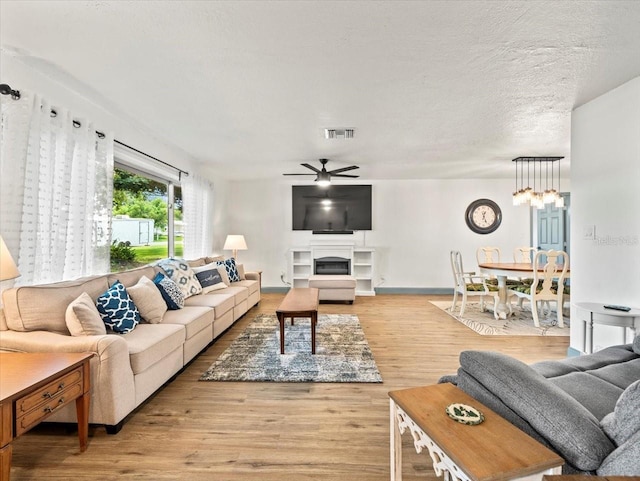
<instances>
[{"instance_id":1,"label":"white textured ceiling with air vent and ceiling fan","mask_svg":"<svg viewBox=\"0 0 640 481\"><path fill-rule=\"evenodd\" d=\"M320 157L363 179L511 177L517 156L570 158L571 110L640 75L639 1L2 0L0 17L5 51L236 179Z\"/></svg>"}]
</instances>

